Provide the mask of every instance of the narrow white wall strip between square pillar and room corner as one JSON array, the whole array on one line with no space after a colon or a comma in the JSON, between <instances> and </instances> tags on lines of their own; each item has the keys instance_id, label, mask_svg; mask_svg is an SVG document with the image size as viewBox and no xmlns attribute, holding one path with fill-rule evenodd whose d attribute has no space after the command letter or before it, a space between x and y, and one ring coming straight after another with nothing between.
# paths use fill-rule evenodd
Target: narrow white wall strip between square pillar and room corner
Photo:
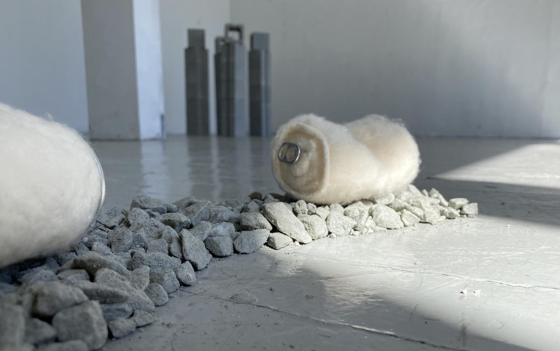
<instances>
[{"instance_id":1,"label":"narrow white wall strip between square pillar and room corner","mask_svg":"<svg viewBox=\"0 0 560 351\"><path fill-rule=\"evenodd\" d=\"M208 49L210 131L216 133L214 38L230 22L229 0L160 0L161 48L164 69L165 128L170 134L186 132L185 62L186 30L206 30Z\"/></svg>"}]
</instances>

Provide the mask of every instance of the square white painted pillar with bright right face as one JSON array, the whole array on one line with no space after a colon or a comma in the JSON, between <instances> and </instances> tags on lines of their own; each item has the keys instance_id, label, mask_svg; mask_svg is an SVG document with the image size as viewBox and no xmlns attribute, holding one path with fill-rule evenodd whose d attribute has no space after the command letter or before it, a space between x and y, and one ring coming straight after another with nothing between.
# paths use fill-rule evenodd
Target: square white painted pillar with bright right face
<instances>
[{"instance_id":1,"label":"square white painted pillar with bright right face","mask_svg":"<svg viewBox=\"0 0 560 351\"><path fill-rule=\"evenodd\" d=\"M165 137L158 0L82 0L92 139Z\"/></svg>"}]
</instances>

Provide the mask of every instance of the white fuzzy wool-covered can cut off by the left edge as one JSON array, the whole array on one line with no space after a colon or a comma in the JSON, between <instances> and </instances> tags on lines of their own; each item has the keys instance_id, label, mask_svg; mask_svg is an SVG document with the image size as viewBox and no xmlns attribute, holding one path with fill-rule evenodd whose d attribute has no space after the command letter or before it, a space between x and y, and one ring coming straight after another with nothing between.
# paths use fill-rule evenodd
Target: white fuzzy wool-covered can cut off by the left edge
<instances>
[{"instance_id":1,"label":"white fuzzy wool-covered can cut off by the left edge","mask_svg":"<svg viewBox=\"0 0 560 351\"><path fill-rule=\"evenodd\" d=\"M75 130L0 104L0 267L67 249L105 196L101 166Z\"/></svg>"}]
</instances>

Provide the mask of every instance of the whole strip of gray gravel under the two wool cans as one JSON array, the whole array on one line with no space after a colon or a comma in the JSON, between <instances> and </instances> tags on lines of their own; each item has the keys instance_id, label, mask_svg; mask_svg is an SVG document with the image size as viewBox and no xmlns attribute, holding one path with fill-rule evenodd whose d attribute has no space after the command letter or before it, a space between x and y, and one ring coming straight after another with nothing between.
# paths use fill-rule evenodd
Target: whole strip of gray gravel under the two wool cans
<instances>
[{"instance_id":1,"label":"whole strip of gray gravel under the two wool cans","mask_svg":"<svg viewBox=\"0 0 560 351\"><path fill-rule=\"evenodd\" d=\"M73 252L0 269L0 350L32 350L34 344L36 351L92 350L109 331L128 335L153 322L168 294L197 283L195 269L206 268L209 252L224 257L263 245L278 250L477 214L477 203L447 202L436 189L413 185L345 207L279 194L216 204L138 195L130 210L101 214Z\"/></svg>"}]
</instances>

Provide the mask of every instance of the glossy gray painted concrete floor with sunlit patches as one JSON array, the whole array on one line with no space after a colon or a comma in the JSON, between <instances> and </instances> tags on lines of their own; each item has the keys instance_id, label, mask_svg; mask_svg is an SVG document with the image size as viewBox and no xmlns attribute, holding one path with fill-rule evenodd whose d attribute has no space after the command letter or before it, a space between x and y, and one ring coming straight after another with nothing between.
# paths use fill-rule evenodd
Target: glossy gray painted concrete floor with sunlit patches
<instances>
[{"instance_id":1,"label":"glossy gray painted concrete floor with sunlit patches","mask_svg":"<svg viewBox=\"0 0 560 351\"><path fill-rule=\"evenodd\" d=\"M418 142L419 188L478 202L478 218L214 259L153 325L103 349L557 350L560 143ZM172 201L278 191L268 140L95 148L107 208L138 193Z\"/></svg>"}]
</instances>

